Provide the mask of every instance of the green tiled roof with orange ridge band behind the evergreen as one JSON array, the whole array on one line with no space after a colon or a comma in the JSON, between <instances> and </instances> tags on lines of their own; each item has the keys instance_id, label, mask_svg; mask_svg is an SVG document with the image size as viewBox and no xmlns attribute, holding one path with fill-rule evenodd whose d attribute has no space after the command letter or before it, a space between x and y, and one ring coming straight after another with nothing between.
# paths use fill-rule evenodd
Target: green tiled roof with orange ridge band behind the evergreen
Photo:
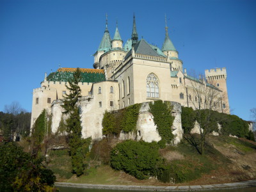
<instances>
[{"instance_id":1,"label":"green tiled roof with orange ridge band behind the evergreen","mask_svg":"<svg viewBox=\"0 0 256 192\"><path fill-rule=\"evenodd\" d=\"M96 83L99 81L106 81L103 69L93 68L80 68L81 70L81 82L83 83ZM73 72L76 68L59 68L56 72L52 72L46 78L47 81L61 81L68 82L73 77Z\"/></svg>"}]
</instances>

